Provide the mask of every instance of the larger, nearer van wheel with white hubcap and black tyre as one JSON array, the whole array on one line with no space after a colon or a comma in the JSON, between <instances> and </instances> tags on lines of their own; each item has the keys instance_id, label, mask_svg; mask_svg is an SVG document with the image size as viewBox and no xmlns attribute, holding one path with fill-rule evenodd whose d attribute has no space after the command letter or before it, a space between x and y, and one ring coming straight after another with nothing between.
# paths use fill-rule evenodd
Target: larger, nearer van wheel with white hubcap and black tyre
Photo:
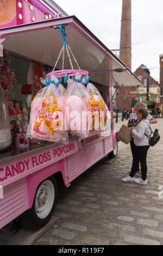
<instances>
[{"instance_id":1,"label":"larger, nearer van wheel with white hubcap and black tyre","mask_svg":"<svg viewBox=\"0 0 163 256\"><path fill-rule=\"evenodd\" d=\"M21 216L22 223L30 229L44 227L53 215L58 196L57 181L54 176L42 181L37 187L31 209Z\"/></svg>"}]
</instances>

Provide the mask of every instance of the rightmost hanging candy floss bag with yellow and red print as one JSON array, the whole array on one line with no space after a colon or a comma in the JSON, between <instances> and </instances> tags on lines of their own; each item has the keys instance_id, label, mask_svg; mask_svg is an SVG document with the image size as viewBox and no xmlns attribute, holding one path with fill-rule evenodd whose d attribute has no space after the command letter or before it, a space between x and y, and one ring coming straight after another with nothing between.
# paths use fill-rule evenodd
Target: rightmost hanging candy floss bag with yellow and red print
<instances>
[{"instance_id":1,"label":"rightmost hanging candy floss bag with yellow and red print","mask_svg":"<svg viewBox=\"0 0 163 256\"><path fill-rule=\"evenodd\" d=\"M92 84L87 84L89 94L89 109L91 113L90 136L98 132L105 132L108 123L108 114L105 102L98 89Z\"/></svg>"}]
</instances>

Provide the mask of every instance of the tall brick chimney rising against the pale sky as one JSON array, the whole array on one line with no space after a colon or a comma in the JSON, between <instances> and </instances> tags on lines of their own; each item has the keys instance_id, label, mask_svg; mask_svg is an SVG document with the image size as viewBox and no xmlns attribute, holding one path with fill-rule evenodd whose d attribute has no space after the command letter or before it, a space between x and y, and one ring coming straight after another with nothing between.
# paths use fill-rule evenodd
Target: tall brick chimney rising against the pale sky
<instances>
[{"instance_id":1,"label":"tall brick chimney rising against the pale sky","mask_svg":"<svg viewBox=\"0 0 163 256\"><path fill-rule=\"evenodd\" d=\"M131 0L123 0L120 59L131 70Z\"/></svg>"}]
</instances>

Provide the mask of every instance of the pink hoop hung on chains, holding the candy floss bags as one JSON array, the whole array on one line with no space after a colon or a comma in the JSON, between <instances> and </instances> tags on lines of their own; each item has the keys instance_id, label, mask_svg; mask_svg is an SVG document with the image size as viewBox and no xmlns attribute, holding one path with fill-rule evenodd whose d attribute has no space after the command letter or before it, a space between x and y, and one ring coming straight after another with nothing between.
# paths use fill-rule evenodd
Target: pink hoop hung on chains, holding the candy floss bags
<instances>
[{"instance_id":1,"label":"pink hoop hung on chains, holding the candy floss bags","mask_svg":"<svg viewBox=\"0 0 163 256\"><path fill-rule=\"evenodd\" d=\"M88 71L85 70L77 70L77 69L64 69L64 70L57 70L53 71L51 73L48 73L46 75L47 78L51 78L52 75L55 75L57 77L64 77L65 74L69 76L75 76L77 73L79 73L81 76L89 75Z\"/></svg>"}]
</instances>

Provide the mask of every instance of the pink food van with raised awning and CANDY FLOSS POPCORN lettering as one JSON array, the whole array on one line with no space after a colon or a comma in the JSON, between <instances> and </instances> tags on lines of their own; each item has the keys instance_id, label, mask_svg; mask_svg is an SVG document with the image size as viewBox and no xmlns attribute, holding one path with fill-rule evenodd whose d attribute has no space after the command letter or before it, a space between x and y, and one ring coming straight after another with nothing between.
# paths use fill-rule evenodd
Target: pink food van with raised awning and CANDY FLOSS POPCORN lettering
<instances>
[{"instance_id":1,"label":"pink food van with raised awning and CANDY FLOSS POPCORN lettering","mask_svg":"<svg viewBox=\"0 0 163 256\"><path fill-rule=\"evenodd\" d=\"M82 141L70 137L68 144L39 142L20 148L11 145L0 151L0 228L20 216L28 227L37 229L54 212L58 178L68 187L104 156L117 155L111 88L116 84L139 86L141 82L76 16L59 15L62 10L53 1L10 2L16 11L11 20L0 25L0 48L10 54L11 62L14 56L17 81L25 73L22 59L54 66L62 44L58 28L64 25L74 56L89 72L111 113L111 132L106 136L97 134ZM66 65L69 67L68 59Z\"/></svg>"}]
</instances>

